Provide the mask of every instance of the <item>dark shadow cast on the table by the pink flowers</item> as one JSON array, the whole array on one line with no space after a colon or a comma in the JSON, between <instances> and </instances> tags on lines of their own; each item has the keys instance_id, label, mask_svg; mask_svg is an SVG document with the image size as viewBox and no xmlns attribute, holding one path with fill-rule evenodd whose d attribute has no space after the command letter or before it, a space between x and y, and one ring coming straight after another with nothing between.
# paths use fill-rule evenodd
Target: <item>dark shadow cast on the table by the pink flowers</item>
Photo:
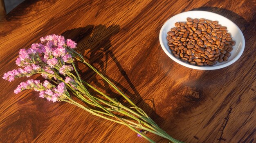
<instances>
[{"instance_id":1,"label":"dark shadow cast on the table by the pink flowers","mask_svg":"<svg viewBox=\"0 0 256 143\"><path fill-rule=\"evenodd\" d=\"M106 76L108 61L114 61L115 65L117 66L117 70L110 72L118 72L119 70L125 81L132 89L133 93L125 88L122 83L118 83L117 81L113 80L108 76L106 77L111 82L113 82L119 89L121 89L121 91L126 93L126 95L128 95L128 97L130 97L132 101L137 104L137 106L145 109L145 112L148 113L150 117L158 118L159 121L159 119L161 120L162 118L159 118L159 115L155 113L153 100L149 100L153 104L153 108L151 108L150 105L145 102L146 100L143 100L143 98L141 98L141 95L132 84L130 78L128 77L125 70L122 68L121 64L112 52L112 45L110 39L112 36L116 35L119 30L119 25L112 25L108 27L101 24L97 26L88 25L85 27L67 30L62 35L66 39L73 39L74 41L76 41L76 43L78 43L76 51L82 53L86 61L96 67L99 72L101 72L104 76ZM76 65L79 67L79 73L81 73L82 78L85 79L85 81L93 83L93 85L96 85L98 88L106 91L106 93L112 98L116 98L117 100L119 100L119 102L124 103L124 98L122 98L121 95L112 90L112 87L110 87L105 80L99 80L99 78L97 78L97 74L94 71L86 68L82 64L76 63Z\"/></svg>"}]
</instances>

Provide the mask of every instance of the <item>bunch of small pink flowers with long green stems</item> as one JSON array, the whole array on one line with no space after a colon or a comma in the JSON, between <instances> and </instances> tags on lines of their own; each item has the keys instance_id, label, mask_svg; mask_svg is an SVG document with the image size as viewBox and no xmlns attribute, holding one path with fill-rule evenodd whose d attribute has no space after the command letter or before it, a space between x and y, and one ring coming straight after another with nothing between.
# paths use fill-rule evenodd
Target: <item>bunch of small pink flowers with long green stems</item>
<instances>
[{"instance_id":1,"label":"bunch of small pink flowers with long green stems","mask_svg":"<svg viewBox=\"0 0 256 143\"><path fill-rule=\"evenodd\" d=\"M40 82L39 80L29 79L26 82L21 82L14 90L14 93L18 94L26 89L34 89L39 92L39 97L41 98L46 98L52 102L68 102L92 115L123 124L135 131L138 137L144 137L151 143L155 142L146 136L147 132L157 134L173 143L180 143L180 141L173 139L159 128L120 89L87 63L83 56L74 50L76 48L74 41L65 40L64 37L58 35L42 37L40 41L40 43L32 44L31 48L27 50L21 49L19 57L16 59L16 64L21 68L5 73L3 78L11 82L15 78L41 74L45 80ZM116 99L110 98L105 93L83 81L74 65L74 60L84 63L99 74L103 80L108 82L112 88L126 99L130 107L124 106ZM89 93L89 88L99 93L101 97L99 98ZM74 101L74 97L81 100L83 104Z\"/></svg>"}]
</instances>

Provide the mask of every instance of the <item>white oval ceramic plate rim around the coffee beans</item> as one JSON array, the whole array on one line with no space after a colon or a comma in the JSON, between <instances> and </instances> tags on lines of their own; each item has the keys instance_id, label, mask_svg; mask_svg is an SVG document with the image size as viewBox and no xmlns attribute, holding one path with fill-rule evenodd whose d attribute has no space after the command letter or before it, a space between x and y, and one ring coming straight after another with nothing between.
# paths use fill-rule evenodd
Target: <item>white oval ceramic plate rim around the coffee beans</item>
<instances>
[{"instance_id":1,"label":"white oval ceramic plate rim around the coffee beans","mask_svg":"<svg viewBox=\"0 0 256 143\"><path fill-rule=\"evenodd\" d=\"M186 22L186 18L191 17L193 18L205 18L208 20L215 21L217 20L219 24L222 26L226 26L228 32L231 33L233 40L236 41L236 45L233 46L233 51L231 52L231 56L229 57L228 61L219 63L217 62L216 65L213 66L196 66L196 65L190 65L189 63L183 62L178 58L175 58L173 54L171 54L171 50L168 46L168 40L167 32L170 31L171 28L175 27L175 22ZM218 15L216 13L211 13L207 11L187 11L184 13L180 13L177 15L174 15L169 20L167 20L164 25L162 26L159 34L159 40L160 44L164 50L164 52L171 58L173 61L184 65L186 67L192 68L192 69L200 69L200 70L213 70L213 69L220 69L223 67L227 67L234 63L240 56L243 54L243 51L245 49L245 38L242 33L242 31L234 24L234 22L231 22L231 20L227 19L226 17L222 15Z\"/></svg>"}]
</instances>

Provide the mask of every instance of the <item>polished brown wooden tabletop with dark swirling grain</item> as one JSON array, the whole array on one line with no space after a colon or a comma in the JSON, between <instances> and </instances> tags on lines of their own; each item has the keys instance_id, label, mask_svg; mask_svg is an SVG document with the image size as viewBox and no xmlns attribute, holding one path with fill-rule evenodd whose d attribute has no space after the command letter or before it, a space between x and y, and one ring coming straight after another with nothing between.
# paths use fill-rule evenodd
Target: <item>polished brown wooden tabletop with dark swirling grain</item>
<instances>
[{"instance_id":1,"label":"polished brown wooden tabletop with dark swirling grain","mask_svg":"<svg viewBox=\"0 0 256 143\"><path fill-rule=\"evenodd\" d=\"M173 15L191 10L221 14L243 31L245 51L236 63L200 71L164 53L160 28ZM251 0L27 0L0 21L0 76L17 67L20 48L45 35L63 35L172 137L186 143L255 143L255 14ZM92 71L78 66L83 79L112 93ZM53 104L33 91L15 95L25 80L0 78L0 143L147 142L71 104Z\"/></svg>"}]
</instances>

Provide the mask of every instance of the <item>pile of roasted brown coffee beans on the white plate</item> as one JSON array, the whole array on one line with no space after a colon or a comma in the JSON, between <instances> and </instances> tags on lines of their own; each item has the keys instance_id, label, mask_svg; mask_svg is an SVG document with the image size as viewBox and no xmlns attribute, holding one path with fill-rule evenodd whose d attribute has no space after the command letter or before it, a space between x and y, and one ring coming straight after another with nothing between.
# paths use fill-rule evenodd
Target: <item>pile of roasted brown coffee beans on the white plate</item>
<instances>
[{"instance_id":1,"label":"pile of roasted brown coffee beans on the white plate","mask_svg":"<svg viewBox=\"0 0 256 143\"><path fill-rule=\"evenodd\" d=\"M227 27L218 21L187 18L176 22L167 34L171 53L191 65L207 66L227 61L236 44Z\"/></svg>"}]
</instances>

